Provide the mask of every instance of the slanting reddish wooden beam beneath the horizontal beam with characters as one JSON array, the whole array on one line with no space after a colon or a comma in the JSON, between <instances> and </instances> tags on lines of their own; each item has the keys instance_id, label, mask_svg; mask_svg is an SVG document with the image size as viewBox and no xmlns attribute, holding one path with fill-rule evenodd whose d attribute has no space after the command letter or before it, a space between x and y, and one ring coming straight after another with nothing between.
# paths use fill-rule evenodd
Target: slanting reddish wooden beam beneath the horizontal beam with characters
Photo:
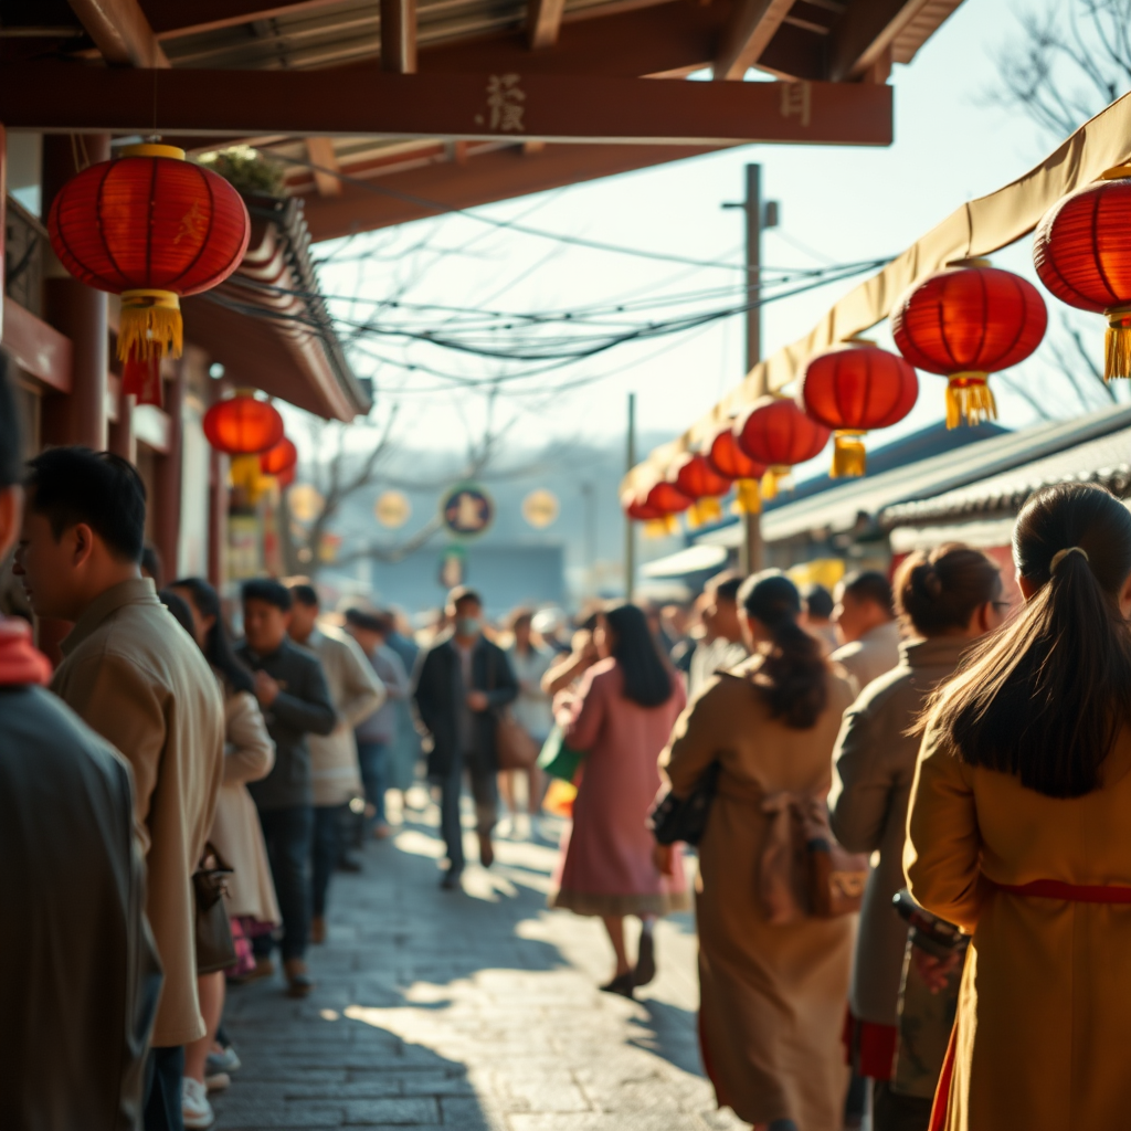
<instances>
[{"instance_id":1,"label":"slanting reddish wooden beam beneath the horizontal beam with characters","mask_svg":"<svg viewBox=\"0 0 1131 1131\"><path fill-rule=\"evenodd\" d=\"M312 240L333 240L711 152L707 146L549 145L532 161L523 146L508 146L477 154L463 167L425 165L374 178L369 188L347 184L334 199L309 198L305 219Z\"/></svg>"}]
</instances>

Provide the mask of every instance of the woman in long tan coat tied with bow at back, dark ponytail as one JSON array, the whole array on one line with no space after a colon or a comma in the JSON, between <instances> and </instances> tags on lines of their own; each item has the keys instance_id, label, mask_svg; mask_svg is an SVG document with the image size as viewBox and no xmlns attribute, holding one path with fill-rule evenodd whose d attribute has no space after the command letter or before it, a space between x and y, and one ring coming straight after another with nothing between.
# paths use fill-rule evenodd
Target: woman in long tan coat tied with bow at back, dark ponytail
<instances>
[{"instance_id":1,"label":"woman in long tan coat tied with bow at back, dark ponytail","mask_svg":"<svg viewBox=\"0 0 1131 1131\"><path fill-rule=\"evenodd\" d=\"M797 623L801 596L784 573L748 578L739 603L751 658L708 681L661 758L676 797L719 767L699 844L703 1063L719 1106L757 1128L840 1131L853 916L777 922L759 898L759 861L780 798L823 805L853 696ZM670 856L657 849L662 866Z\"/></svg>"}]
</instances>

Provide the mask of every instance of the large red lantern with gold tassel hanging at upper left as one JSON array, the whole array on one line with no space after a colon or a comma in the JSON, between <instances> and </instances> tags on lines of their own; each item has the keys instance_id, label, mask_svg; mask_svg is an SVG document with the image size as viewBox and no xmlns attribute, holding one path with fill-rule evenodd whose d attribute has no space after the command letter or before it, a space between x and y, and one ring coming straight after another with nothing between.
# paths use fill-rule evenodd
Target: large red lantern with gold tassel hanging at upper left
<instances>
[{"instance_id":1,"label":"large red lantern with gold tassel hanging at upper left","mask_svg":"<svg viewBox=\"0 0 1131 1131\"><path fill-rule=\"evenodd\" d=\"M122 391L159 404L161 359L181 355L179 299L223 283L248 249L240 193L175 146L127 146L59 190L48 231L71 275L122 296Z\"/></svg>"}]
</instances>

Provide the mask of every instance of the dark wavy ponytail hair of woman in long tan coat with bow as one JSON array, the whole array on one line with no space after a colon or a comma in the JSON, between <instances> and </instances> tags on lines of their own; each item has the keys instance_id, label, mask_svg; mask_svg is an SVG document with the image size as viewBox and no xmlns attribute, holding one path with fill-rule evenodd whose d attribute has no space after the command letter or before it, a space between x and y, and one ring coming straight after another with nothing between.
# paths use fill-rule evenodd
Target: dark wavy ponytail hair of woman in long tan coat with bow
<instances>
[{"instance_id":1,"label":"dark wavy ponytail hair of woman in long tan coat with bow","mask_svg":"<svg viewBox=\"0 0 1131 1131\"><path fill-rule=\"evenodd\" d=\"M766 658L753 673L754 685L769 700L774 718L808 731L828 706L828 665L821 642L797 623L797 587L785 573L768 569L746 578L739 602L770 637Z\"/></svg>"}]
</instances>

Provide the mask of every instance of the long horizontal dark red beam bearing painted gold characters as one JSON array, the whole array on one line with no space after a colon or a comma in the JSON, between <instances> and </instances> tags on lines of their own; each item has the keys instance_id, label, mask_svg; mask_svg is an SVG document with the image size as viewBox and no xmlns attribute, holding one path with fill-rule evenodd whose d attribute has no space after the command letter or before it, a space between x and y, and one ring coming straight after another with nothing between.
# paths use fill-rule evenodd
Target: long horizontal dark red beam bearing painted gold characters
<instances>
[{"instance_id":1,"label":"long horizontal dark red beam bearing painted gold characters","mask_svg":"<svg viewBox=\"0 0 1131 1131\"><path fill-rule=\"evenodd\" d=\"M44 132L889 145L891 89L372 69L0 68L0 121Z\"/></svg>"}]
</instances>

